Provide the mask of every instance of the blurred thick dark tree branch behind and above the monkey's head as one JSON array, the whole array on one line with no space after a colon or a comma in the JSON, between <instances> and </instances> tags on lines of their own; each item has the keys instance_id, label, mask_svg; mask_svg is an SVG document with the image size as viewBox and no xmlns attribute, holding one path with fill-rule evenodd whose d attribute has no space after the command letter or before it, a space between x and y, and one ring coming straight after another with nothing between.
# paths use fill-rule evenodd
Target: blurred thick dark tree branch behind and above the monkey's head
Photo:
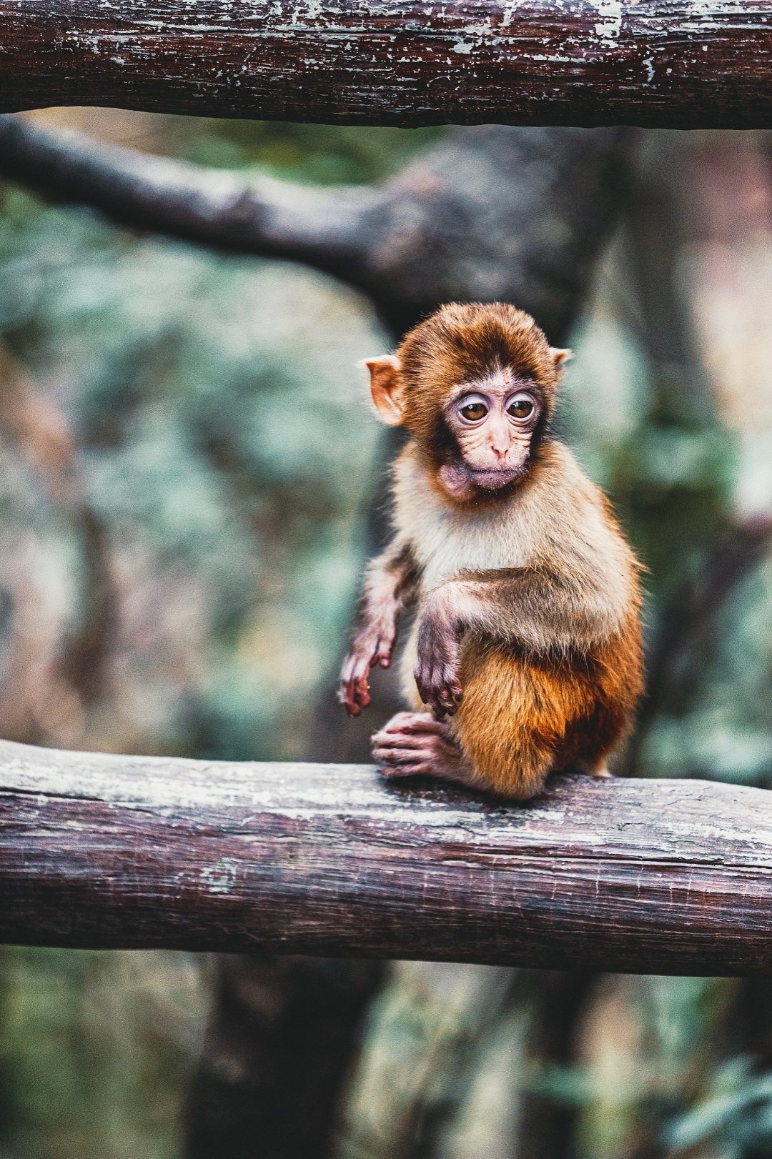
<instances>
[{"instance_id":1,"label":"blurred thick dark tree branch behind and above the monkey's head","mask_svg":"<svg viewBox=\"0 0 772 1159\"><path fill-rule=\"evenodd\" d=\"M0 118L0 174L115 220L294 258L371 296L396 333L504 299L562 341L625 190L624 130L458 130L386 184L312 189Z\"/></svg>"}]
</instances>

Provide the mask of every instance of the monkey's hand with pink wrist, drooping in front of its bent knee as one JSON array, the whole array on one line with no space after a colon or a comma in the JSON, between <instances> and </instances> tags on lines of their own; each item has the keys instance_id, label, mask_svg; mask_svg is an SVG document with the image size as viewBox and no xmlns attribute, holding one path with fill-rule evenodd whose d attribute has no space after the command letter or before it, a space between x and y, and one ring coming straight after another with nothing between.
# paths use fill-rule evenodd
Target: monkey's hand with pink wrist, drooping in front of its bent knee
<instances>
[{"instance_id":1,"label":"monkey's hand with pink wrist, drooping in front of its bent knee","mask_svg":"<svg viewBox=\"0 0 772 1159\"><path fill-rule=\"evenodd\" d=\"M418 628L418 659L413 672L418 695L437 719L452 716L461 702L459 656L460 625L439 588L427 600Z\"/></svg>"}]
</instances>

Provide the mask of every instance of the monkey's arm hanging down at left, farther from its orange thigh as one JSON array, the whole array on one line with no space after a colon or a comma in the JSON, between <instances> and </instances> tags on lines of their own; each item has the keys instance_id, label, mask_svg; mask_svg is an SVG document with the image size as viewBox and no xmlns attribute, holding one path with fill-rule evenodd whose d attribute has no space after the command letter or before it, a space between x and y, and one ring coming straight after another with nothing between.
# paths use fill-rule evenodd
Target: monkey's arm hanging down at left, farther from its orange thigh
<instances>
[{"instance_id":1,"label":"monkey's arm hanging down at left, farther from its orange thigh","mask_svg":"<svg viewBox=\"0 0 772 1159\"><path fill-rule=\"evenodd\" d=\"M396 617L415 599L418 580L410 545L399 538L370 563L351 650L341 671L338 699L349 716L358 716L370 704L370 669L377 664L389 666L396 643Z\"/></svg>"}]
</instances>

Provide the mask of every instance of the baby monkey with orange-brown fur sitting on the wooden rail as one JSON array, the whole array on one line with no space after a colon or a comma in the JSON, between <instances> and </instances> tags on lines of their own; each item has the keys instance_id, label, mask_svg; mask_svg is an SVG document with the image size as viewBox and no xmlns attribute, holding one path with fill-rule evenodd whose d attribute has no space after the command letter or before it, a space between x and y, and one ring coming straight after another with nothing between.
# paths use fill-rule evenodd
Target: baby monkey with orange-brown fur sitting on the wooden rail
<instances>
[{"instance_id":1,"label":"baby monkey with orange-brown fur sitting on the wooden rail","mask_svg":"<svg viewBox=\"0 0 772 1159\"><path fill-rule=\"evenodd\" d=\"M373 736L386 777L507 797L605 773L641 691L639 567L603 493L549 433L569 350L503 304L449 305L366 362L394 466L394 538L366 573L341 675L351 716L399 613L412 712ZM427 707L429 712L427 712Z\"/></svg>"}]
</instances>

